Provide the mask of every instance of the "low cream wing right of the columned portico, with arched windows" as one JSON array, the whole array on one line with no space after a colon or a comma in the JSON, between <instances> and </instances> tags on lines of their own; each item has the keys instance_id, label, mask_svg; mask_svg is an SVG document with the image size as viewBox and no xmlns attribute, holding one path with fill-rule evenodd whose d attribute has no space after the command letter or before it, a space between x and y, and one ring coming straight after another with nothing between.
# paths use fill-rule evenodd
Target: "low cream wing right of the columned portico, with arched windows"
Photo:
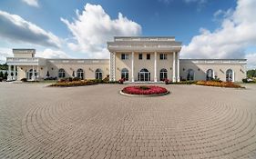
<instances>
[{"instance_id":1,"label":"low cream wing right of the columned portico, with arched windows","mask_svg":"<svg viewBox=\"0 0 256 159\"><path fill-rule=\"evenodd\" d=\"M210 80L241 82L246 78L246 59L180 59L181 80Z\"/></svg>"}]
</instances>

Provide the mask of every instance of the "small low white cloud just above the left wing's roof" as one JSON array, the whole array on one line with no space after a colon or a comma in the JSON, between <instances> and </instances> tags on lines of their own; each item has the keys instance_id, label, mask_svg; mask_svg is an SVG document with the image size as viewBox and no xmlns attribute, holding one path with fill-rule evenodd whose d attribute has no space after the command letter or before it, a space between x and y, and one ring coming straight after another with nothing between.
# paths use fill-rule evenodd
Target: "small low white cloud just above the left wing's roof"
<instances>
[{"instance_id":1,"label":"small low white cloud just above the left wing's roof","mask_svg":"<svg viewBox=\"0 0 256 159\"><path fill-rule=\"evenodd\" d=\"M43 57L43 58L71 58L70 55L67 55L65 52L60 50L52 50L52 49L45 49L43 52L36 52L36 56Z\"/></svg>"}]
</instances>

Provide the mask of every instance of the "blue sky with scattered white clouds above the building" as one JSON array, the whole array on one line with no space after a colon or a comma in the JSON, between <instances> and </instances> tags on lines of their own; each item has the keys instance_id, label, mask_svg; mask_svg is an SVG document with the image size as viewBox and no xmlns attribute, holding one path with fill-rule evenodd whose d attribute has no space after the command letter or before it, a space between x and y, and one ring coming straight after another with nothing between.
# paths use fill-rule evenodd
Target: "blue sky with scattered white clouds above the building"
<instances>
[{"instance_id":1,"label":"blue sky with scattered white clouds above the building","mask_svg":"<svg viewBox=\"0 0 256 159\"><path fill-rule=\"evenodd\" d=\"M0 63L13 48L45 58L108 58L117 35L175 36L180 58L246 58L256 68L255 0L1 0Z\"/></svg>"}]
</instances>

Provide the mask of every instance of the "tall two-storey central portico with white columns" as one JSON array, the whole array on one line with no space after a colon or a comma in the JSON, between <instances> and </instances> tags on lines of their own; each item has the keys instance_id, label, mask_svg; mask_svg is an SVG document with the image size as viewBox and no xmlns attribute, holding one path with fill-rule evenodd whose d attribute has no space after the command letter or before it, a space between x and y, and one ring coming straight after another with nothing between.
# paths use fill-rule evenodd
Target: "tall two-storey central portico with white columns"
<instances>
[{"instance_id":1,"label":"tall two-storey central portico with white columns","mask_svg":"<svg viewBox=\"0 0 256 159\"><path fill-rule=\"evenodd\" d=\"M114 37L108 42L110 81L179 82L179 51L175 37Z\"/></svg>"}]
</instances>

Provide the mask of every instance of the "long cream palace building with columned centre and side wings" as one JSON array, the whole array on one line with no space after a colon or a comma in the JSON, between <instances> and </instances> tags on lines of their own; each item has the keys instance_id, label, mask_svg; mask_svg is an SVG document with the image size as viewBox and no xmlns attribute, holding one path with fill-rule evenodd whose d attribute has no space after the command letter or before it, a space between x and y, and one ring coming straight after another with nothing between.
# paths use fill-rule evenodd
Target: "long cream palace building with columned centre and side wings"
<instances>
[{"instance_id":1,"label":"long cream palace building with columned centre and side wings","mask_svg":"<svg viewBox=\"0 0 256 159\"><path fill-rule=\"evenodd\" d=\"M35 81L46 77L79 77L110 81L160 82L169 79L240 82L246 77L246 59L179 59L181 43L175 37L118 36L108 42L109 59L46 59L35 49L13 49L7 57L8 80Z\"/></svg>"}]
</instances>

